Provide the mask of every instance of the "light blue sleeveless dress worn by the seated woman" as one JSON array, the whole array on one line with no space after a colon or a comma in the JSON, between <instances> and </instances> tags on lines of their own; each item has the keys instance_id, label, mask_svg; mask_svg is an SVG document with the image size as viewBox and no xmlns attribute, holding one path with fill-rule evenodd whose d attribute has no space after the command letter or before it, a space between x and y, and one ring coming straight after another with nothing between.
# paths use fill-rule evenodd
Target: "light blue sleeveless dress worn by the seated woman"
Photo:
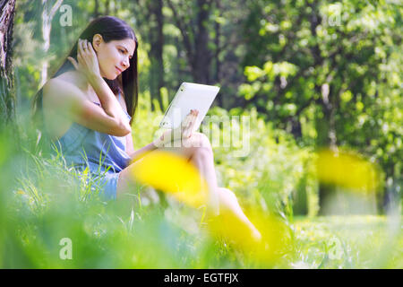
<instances>
[{"instance_id":1,"label":"light blue sleeveless dress worn by the seated woman","mask_svg":"<svg viewBox=\"0 0 403 287\"><path fill-rule=\"evenodd\" d=\"M99 103L94 103L100 106ZM127 121L130 121L131 117L124 112ZM73 123L55 143L68 166L81 171L88 168L91 176L99 182L100 196L103 199L116 199L119 173L131 160L126 152L125 136L107 135Z\"/></svg>"}]
</instances>

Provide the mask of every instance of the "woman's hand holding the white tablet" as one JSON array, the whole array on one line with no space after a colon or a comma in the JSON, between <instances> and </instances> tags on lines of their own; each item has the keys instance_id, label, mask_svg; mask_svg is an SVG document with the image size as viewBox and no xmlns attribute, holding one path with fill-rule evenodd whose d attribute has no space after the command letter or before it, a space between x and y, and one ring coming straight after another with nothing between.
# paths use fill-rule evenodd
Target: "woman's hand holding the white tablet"
<instances>
[{"instance_id":1,"label":"woman's hand holding the white tablet","mask_svg":"<svg viewBox=\"0 0 403 287\"><path fill-rule=\"evenodd\" d=\"M172 143L176 140L188 140L193 135L193 127L198 115L199 111L197 109L191 109L190 113L184 117L181 126L176 127L176 129L168 129L154 141L154 145L164 147L167 143Z\"/></svg>"}]
</instances>

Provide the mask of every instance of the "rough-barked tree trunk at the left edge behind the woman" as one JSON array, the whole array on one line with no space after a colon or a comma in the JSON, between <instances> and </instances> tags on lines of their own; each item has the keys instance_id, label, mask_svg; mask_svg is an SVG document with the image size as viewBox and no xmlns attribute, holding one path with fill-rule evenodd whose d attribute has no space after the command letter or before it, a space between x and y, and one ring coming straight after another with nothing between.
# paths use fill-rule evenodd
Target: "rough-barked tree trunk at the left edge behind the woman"
<instances>
[{"instance_id":1,"label":"rough-barked tree trunk at the left edge behind the woman","mask_svg":"<svg viewBox=\"0 0 403 287\"><path fill-rule=\"evenodd\" d=\"M13 18L15 0L0 0L0 129L15 119Z\"/></svg>"}]
</instances>

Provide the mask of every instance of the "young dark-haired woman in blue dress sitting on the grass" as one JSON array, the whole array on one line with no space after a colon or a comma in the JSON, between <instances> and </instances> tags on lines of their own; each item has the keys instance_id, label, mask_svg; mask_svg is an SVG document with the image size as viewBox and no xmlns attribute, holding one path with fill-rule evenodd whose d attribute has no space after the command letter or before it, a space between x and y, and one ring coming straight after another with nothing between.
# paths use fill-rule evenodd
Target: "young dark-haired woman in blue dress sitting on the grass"
<instances>
[{"instance_id":1,"label":"young dark-haired woman in blue dress sitting on the grass","mask_svg":"<svg viewBox=\"0 0 403 287\"><path fill-rule=\"evenodd\" d=\"M103 196L108 199L118 200L130 191L131 170L149 152L176 152L193 162L207 181L210 195L217 195L219 213L234 215L259 240L259 231L244 215L234 193L217 184L209 139L191 132L197 111L185 117L180 136L173 138L187 144L164 147L171 139L172 131L167 131L134 151L131 123L138 100L138 47L134 31L124 21L105 16L90 22L34 100L47 137L68 164L103 174Z\"/></svg>"}]
</instances>

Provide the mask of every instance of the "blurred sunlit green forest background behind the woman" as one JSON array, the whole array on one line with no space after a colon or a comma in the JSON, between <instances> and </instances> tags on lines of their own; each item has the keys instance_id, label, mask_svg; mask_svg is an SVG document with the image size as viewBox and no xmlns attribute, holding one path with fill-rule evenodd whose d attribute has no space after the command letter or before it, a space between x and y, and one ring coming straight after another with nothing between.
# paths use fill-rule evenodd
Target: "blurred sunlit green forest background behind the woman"
<instances>
[{"instance_id":1,"label":"blurred sunlit green forest background behind the woman","mask_svg":"<svg viewBox=\"0 0 403 287\"><path fill-rule=\"evenodd\" d=\"M7 3L13 1L2 1L2 8ZM140 42L135 148L152 141L156 123L181 83L219 85L209 114L219 120L211 135L216 133L223 143L220 118L250 121L247 154L236 156L240 145L235 142L214 147L219 182L234 190L246 209L277 213L294 230L296 215L307 226L321 222L318 215L374 216L362 224L385 223L382 216L391 210L400 216L399 1L20 0L13 7L13 57L9 69L2 70L4 123L27 127L30 100L81 30L97 16L114 15L133 27ZM5 76L12 81L4 82ZM3 151L13 146L5 140L2 144ZM14 159L9 156L13 152L6 153L9 160L0 161L4 167ZM26 180L21 188L10 184L14 194L32 197L27 191L31 179ZM32 185L39 187L38 182ZM43 204L43 199L35 200ZM399 239L401 251L401 234ZM318 259L319 253L298 260L322 266L325 257ZM389 266L382 260L381 266ZM391 266L401 266L401 256L393 260ZM347 261L340 264L347 266ZM364 261L357 262L361 266Z\"/></svg>"}]
</instances>

